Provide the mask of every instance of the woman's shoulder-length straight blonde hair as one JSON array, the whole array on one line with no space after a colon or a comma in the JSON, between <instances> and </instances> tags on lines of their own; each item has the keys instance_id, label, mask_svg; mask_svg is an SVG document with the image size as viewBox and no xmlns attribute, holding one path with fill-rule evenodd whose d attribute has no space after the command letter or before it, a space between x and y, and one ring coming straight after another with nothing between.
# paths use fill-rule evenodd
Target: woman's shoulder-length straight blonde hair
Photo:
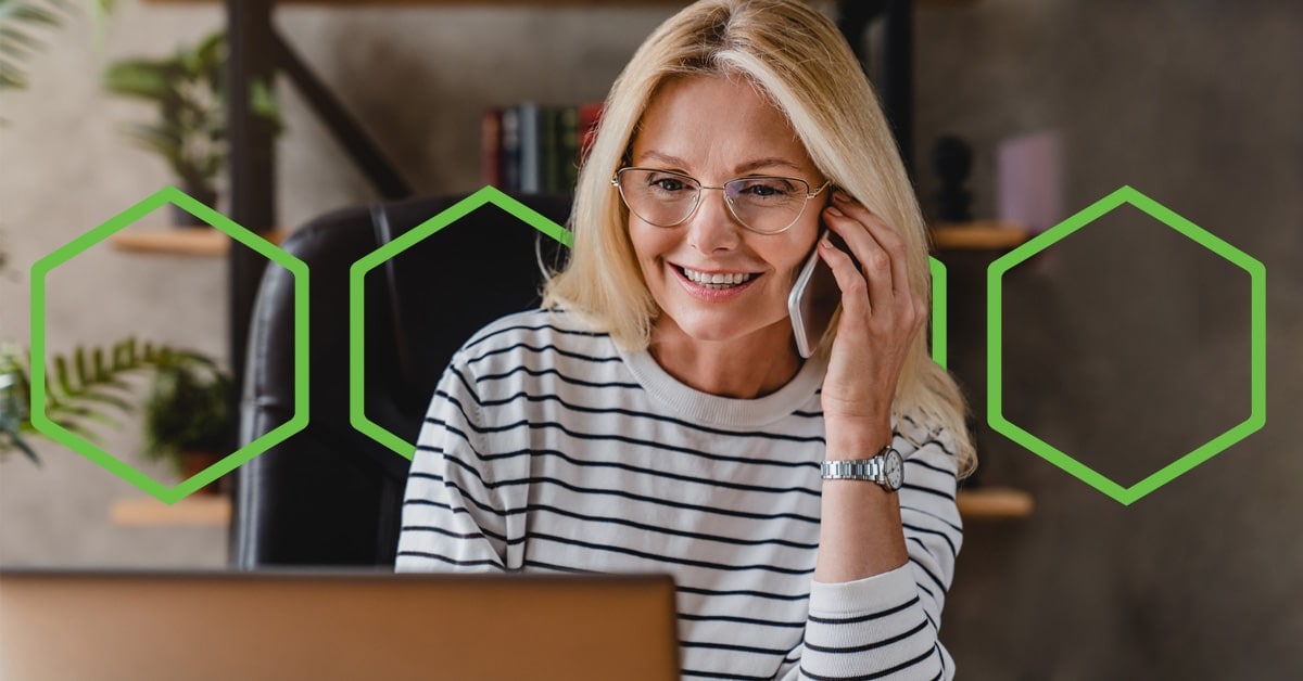
<instances>
[{"instance_id":1,"label":"woman's shoulder-length straight blonde hair","mask_svg":"<svg viewBox=\"0 0 1303 681\"><path fill-rule=\"evenodd\" d=\"M545 288L563 306L645 349L659 314L633 254L628 210L611 186L652 98L684 76L743 78L782 111L825 177L869 206L908 246L909 286L929 298L928 233L895 141L860 63L837 27L796 0L702 0L642 43L606 98L602 122L580 171L566 268ZM928 355L925 333L909 348L894 414L917 414L947 431L960 470L976 465L964 404Z\"/></svg>"}]
</instances>

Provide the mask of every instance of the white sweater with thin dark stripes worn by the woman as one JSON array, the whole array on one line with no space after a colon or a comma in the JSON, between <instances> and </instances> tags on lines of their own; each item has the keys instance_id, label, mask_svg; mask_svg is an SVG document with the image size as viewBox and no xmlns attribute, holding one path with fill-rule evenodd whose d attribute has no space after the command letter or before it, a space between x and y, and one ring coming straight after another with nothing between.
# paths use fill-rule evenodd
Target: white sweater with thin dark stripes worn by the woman
<instances>
[{"instance_id":1,"label":"white sweater with thin dark stripes worn by the woman","mask_svg":"<svg viewBox=\"0 0 1303 681\"><path fill-rule=\"evenodd\" d=\"M439 382L397 569L672 573L684 678L951 678L937 629L962 530L943 432L895 428L909 563L813 581L825 368L724 398L573 315L500 319Z\"/></svg>"}]
</instances>

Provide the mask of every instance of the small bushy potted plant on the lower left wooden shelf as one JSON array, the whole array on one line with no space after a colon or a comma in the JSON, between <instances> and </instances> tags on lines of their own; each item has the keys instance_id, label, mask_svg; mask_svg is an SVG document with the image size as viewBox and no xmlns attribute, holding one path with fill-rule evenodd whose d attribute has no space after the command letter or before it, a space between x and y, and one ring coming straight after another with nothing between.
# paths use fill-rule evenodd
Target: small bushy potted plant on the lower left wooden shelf
<instances>
[{"instance_id":1,"label":"small bushy potted plant on the lower left wooden shelf","mask_svg":"<svg viewBox=\"0 0 1303 681\"><path fill-rule=\"evenodd\" d=\"M231 453L232 384L231 375L202 354L168 353L145 401L145 457L167 461L181 479L189 479ZM216 492L216 487L201 491Z\"/></svg>"}]
</instances>

